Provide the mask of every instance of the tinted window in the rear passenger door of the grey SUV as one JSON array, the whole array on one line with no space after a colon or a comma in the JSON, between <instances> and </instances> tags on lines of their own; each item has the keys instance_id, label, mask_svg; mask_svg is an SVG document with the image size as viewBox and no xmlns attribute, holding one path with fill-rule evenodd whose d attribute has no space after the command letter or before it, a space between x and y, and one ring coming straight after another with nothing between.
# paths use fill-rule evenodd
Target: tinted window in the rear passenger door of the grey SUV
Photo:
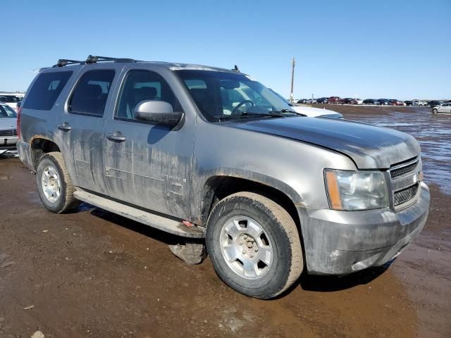
<instances>
[{"instance_id":1,"label":"tinted window in the rear passenger door of the grey SUV","mask_svg":"<svg viewBox=\"0 0 451 338\"><path fill-rule=\"evenodd\" d=\"M69 101L69 112L103 116L114 70L90 70L82 75Z\"/></svg>"}]
</instances>

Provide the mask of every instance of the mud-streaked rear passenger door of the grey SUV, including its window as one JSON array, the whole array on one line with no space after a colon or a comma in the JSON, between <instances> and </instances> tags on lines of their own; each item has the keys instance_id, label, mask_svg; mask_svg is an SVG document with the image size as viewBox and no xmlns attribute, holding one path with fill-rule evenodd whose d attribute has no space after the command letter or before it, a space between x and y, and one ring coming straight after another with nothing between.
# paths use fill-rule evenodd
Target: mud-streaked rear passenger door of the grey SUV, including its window
<instances>
[{"instance_id":1,"label":"mud-streaked rear passenger door of the grey SUV, including its window","mask_svg":"<svg viewBox=\"0 0 451 338\"><path fill-rule=\"evenodd\" d=\"M118 65L86 65L68 95L56 123L55 138L68 154L70 177L78 187L106 193L102 175L104 112L111 104L111 87L121 68Z\"/></svg>"}]
</instances>

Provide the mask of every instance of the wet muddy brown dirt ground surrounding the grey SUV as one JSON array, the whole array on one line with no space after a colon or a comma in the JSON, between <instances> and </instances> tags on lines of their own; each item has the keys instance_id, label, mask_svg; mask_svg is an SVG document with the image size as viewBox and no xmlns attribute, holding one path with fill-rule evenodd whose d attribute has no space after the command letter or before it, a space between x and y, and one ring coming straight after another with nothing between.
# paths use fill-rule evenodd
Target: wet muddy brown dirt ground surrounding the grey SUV
<instances>
[{"instance_id":1,"label":"wet muddy brown dirt ground surrounding the grey SUV","mask_svg":"<svg viewBox=\"0 0 451 338\"><path fill-rule=\"evenodd\" d=\"M35 175L17 158L0 158L0 338L37 330L45 337L451 337L451 115L327 108L421 142L431 211L390 266L304 275L278 299L251 299L223 284L208 258L188 266L173 256L171 235L86 204L49 213Z\"/></svg>"}]
</instances>

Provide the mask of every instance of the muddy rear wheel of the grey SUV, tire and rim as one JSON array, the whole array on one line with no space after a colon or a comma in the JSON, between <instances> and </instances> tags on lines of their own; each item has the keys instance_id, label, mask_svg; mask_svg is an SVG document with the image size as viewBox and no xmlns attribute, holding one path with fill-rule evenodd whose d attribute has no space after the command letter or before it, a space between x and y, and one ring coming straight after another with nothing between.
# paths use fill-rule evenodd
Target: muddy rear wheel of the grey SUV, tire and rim
<instances>
[{"instance_id":1,"label":"muddy rear wheel of the grey SUV, tire and rim","mask_svg":"<svg viewBox=\"0 0 451 338\"><path fill-rule=\"evenodd\" d=\"M44 154L40 158L36 170L36 185L39 199L52 213L66 213L80 204L73 196L75 190L63 156L57 151Z\"/></svg>"}]
</instances>

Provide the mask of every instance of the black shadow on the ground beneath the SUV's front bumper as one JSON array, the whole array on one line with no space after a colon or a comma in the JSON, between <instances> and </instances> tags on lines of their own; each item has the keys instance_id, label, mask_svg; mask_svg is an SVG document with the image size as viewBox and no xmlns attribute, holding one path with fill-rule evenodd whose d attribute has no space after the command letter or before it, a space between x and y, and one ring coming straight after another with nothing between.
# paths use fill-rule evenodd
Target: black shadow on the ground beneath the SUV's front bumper
<instances>
[{"instance_id":1,"label":"black shadow on the ground beneath the SUV's front bumper","mask_svg":"<svg viewBox=\"0 0 451 338\"><path fill-rule=\"evenodd\" d=\"M302 289L313 292L335 292L351 289L357 285L368 284L376 280L376 278L385 273L391 263L393 261L345 276L319 276L302 273L299 285Z\"/></svg>"}]
</instances>

